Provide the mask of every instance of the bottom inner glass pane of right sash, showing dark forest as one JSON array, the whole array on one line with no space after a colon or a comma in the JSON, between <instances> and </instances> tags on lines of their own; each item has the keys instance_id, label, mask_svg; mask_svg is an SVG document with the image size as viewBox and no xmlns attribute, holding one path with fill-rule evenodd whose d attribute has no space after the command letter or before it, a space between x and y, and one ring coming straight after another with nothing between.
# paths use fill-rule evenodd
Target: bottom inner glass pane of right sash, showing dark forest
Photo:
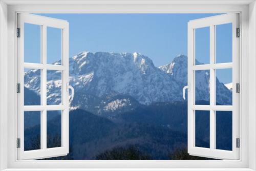
<instances>
[{"instance_id":1,"label":"bottom inner glass pane of right sash, showing dark forest","mask_svg":"<svg viewBox=\"0 0 256 171\"><path fill-rule=\"evenodd\" d=\"M195 111L196 146L210 148L210 111Z\"/></svg>"}]
</instances>

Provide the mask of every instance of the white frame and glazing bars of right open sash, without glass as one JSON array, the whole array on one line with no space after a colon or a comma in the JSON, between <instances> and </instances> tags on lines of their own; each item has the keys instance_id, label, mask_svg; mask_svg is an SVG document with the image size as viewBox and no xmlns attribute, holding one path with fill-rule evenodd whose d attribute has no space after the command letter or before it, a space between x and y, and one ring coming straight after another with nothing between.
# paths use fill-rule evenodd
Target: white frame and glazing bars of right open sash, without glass
<instances>
[{"instance_id":1,"label":"white frame and glazing bars of right open sash, without glass","mask_svg":"<svg viewBox=\"0 0 256 171\"><path fill-rule=\"evenodd\" d=\"M232 23L232 63L216 63L216 26ZM210 64L196 65L195 37L197 28L210 29ZM188 153L215 159L239 159L239 93L236 83L239 83L239 14L223 14L202 19L190 20L188 23ZM240 35L241 36L241 35ZM200 41L200 40L199 40ZM216 69L232 68L232 105L216 105ZM195 75L196 71L210 71L210 105L196 105ZM196 110L209 111L209 148L196 146ZM232 151L216 148L216 111L232 111Z\"/></svg>"}]
</instances>

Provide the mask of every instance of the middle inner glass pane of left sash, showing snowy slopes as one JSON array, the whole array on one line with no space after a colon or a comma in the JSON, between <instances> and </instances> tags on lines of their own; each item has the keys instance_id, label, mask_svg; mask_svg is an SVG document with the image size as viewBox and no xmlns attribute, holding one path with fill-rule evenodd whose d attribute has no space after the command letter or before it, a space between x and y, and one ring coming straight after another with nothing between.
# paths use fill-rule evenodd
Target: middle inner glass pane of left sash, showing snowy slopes
<instances>
[{"instance_id":1,"label":"middle inner glass pane of left sash, showing snowy slopes","mask_svg":"<svg viewBox=\"0 0 256 171\"><path fill-rule=\"evenodd\" d=\"M47 104L61 104L62 71L47 70Z\"/></svg>"}]
</instances>

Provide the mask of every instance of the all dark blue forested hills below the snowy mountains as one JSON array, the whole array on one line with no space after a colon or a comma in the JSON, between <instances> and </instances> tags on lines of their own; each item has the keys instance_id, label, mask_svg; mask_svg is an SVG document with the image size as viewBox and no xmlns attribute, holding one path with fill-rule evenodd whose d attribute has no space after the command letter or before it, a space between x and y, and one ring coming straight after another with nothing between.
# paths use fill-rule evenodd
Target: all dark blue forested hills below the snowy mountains
<instances>
[{"instance_id":1,"label":"all dark blue forested hills below the snowy mountains","mask_svg":"<svg viewBox=\"0 0 256 171\"><path fill-rule=\"evenodd\" d=\"M171 112L168 112L171 111ZM204 116L204 113L197 113ZM209 117L197 117L197 145L209 146L209 136L201 130L209 128ZM232 122L230 115L218 119L217 146L230 149L232 134L228 126ZM48 134L54 136L60 130L60 115L48 121ZM224 122L225 121L225 122ZM224 122L224 123L223 123ZM27 140L35 136L33 130L39 125L25 131ZM84 110L70 112L70 146L71 158L77 160L96 159L106 149L118 146L135 145L153 159L169 159L174 149L187 144L187 107L184 102L155 103L136 108L111 120L94 115ZM223 132L224 130L224 132ZM231 132L232 133L232 132Z\"/></svg>"}]
</instances>

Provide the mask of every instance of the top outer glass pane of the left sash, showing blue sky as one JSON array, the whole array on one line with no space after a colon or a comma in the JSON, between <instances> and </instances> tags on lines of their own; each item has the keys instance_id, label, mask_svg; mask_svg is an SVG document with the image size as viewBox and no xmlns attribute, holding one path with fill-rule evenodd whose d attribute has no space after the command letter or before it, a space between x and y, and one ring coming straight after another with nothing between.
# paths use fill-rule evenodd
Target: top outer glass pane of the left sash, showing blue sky
<instances>
[{"instance_id":1,"label":"top outer glass pane of the left sash, showing blue sky","mask_svg":"<svg viewBox=\"0 0 256 171\"><path fill-rule=\"evenodd\" d=\"M41 63L41 26L24 23L24 62Z\"/></svg>"}]
</instances>

